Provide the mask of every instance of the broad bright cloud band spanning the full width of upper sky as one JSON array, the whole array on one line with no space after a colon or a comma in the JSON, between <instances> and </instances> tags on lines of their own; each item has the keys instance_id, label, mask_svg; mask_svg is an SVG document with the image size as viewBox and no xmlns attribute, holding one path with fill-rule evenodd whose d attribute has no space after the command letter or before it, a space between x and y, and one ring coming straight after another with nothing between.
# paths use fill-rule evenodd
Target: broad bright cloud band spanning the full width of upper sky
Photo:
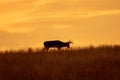
<instances>
[{"instance_id":1,"label":"broad bright cloud band spanning the full width of upper sky","mask_svg":"<svg viewBox=\"0 0 120 80\"><path fill-rule=\"evenodd\" d=\"M21 22L29 22L34 19L72 19L72 18L90 18L90 17L96 17L96 16L104 16L104 15L113 15L120 13L120 10L88 10L84 9L86 6L86 1L79 1L79 0L66 0L63 1L56 1L56 0L2 0L4 2L10 1L16 3L8 3L8 5L1 6L1 7L7 7L6 12L0 13L0 25L1 26L9 26L11 24L15 23L21 23ZM19 3L21 1L21 3ZM82 3L86 3L82 5ZM89 4L93 4L98 1L90 1ZM104 2L103 0L101 1ZM108 2L107 0L104 2ZM116 1L117 3L118 1ZM18 6L15 4L19 4ZM79 6L79 5L81 6ZM13 7L15 5L15 7ZM44 6L43 6L44 5ZM83 6L83 7L82 7ZM90 6L90 5L88 5ZM107 6L107 5L106 5ZM64 7L64 8L63 8ZM95 7L95 5L93 5ZM119 6L118 6L119 7ZM8 9L13 8L13 10L8 11Z\"/></svg>"}]
</instances>

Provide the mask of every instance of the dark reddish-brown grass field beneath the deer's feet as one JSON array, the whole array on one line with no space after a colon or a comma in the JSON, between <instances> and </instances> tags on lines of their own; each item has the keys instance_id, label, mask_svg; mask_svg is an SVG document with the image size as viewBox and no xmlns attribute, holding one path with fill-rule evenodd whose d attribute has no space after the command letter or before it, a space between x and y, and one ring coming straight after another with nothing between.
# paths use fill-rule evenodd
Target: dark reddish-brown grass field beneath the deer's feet
<instances>
[{"instance_id":1,"label":"dark reddish-brown grass field beneath the deer's feet","mask_svg":"<svg viewBox=\"0 0 120 80\"><path fill-rule=\"evenodd\" d=\"M120 46L1 52L0 80L120 80Z\"/></svg>"}]
</instances>

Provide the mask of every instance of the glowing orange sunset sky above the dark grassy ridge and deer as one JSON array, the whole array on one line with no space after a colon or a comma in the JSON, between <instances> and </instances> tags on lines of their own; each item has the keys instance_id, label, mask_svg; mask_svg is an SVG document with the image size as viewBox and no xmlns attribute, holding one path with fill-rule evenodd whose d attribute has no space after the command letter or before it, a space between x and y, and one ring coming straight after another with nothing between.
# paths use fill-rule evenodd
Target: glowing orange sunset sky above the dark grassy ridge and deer
<instances>
[{"instance_id":1,"label":"glowing orange sunset sky above the dark grassy ridge and deer","mask_svg":"<svg viewBox=\"0 0 120 80\"><path fill-rule=\"evenodd\" d=\"M0 48L120 44L120 0L1 0Z\"/></svg>"}]
</instances>

